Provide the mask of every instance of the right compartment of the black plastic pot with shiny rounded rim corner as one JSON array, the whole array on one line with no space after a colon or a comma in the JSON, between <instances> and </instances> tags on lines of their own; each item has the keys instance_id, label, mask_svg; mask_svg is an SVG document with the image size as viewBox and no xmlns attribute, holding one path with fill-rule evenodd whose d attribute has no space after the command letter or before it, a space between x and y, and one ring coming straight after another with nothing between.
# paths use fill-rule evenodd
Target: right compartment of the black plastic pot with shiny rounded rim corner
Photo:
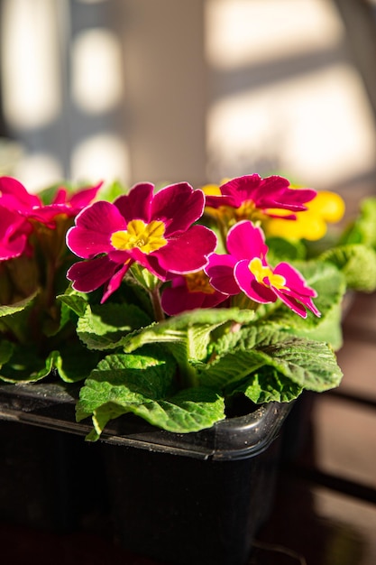
<instances>
[{"instance_id":1,"label":"right compartment of the black plastic pot with shiny rounded rim corner","mask_svg":"<svg viewBox=\"0 0 376 565\"><path fill-rule=\"evenodd\" d=\"M169 445L165 434L148 449L105 445L124 547L174 565L246 563L271 510L286 413L270 404L209 431L169 434Z\"/></svg>"}]
</instances>

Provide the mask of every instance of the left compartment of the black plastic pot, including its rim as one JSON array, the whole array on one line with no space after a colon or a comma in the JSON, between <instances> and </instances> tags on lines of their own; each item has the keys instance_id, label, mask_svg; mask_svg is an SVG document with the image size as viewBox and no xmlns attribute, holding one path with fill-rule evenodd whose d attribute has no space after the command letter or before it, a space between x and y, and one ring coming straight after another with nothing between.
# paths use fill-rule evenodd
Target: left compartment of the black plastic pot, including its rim
<instances>
[{"instance_id":1,"label":"left compartment of the black plastic pot, including its rim","mask_svg":"<svg viewBox=\"0 0 376 565\"><path fill-rule=\"evenodd\" d=\"M74 402L60 385L0 386L1 522L69 533L105 513L98 449L67 433Z\"/></svg>"}]
</instances>

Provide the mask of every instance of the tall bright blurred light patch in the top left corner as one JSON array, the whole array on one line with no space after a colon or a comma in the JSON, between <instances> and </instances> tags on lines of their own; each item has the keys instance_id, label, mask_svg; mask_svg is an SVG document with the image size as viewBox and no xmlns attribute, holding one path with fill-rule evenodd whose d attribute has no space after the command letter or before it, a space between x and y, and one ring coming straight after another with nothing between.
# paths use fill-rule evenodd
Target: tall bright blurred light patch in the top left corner
<instances>
[{"instance_id":1,"label":"tall bright blurred light patch in the top left corner","mask_svg":"<svg viewBox=\"0 0 376 565\"><path fill-rule=\"evenodd\" d=\"M28 129L60 113L60 69L55 3L4 0L1 52L5 117Z\"/></svg>"}]
</instances>

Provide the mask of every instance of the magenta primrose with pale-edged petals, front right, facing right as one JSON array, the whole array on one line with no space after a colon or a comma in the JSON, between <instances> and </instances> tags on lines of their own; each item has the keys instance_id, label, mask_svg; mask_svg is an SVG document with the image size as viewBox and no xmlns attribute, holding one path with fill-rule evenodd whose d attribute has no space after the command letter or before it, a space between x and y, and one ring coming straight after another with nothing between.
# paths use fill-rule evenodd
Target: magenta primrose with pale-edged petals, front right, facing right
<instances>
[{"instance_id":1,"label":"magenta primrose with pale-edged petals, front right, facing right","mask_svg":"<svg viewBox=\"0 0 376 565\"><path fill-rule=\"evenodd\" d=\"M302 318L307 318L306 308L320 316L312 301L316 291L302 275L288 263L274 268L267 263L268 246L260 227L249 220L236 224L228 232L227 250L229 255L210 255L205 268L217 291L233 295L243 291L261 304L280 298Z\"/></svg>"}]
</instances>

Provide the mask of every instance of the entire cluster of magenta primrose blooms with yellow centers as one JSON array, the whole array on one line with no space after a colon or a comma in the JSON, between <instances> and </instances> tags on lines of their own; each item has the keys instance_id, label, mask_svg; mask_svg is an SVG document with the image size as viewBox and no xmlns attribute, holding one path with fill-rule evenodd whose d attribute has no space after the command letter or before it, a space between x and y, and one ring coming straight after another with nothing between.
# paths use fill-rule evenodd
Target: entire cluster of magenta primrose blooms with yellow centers
<instances>
[{"instance_id":1,"label":"entire cluster of magenta primrose blooms with yellow centers","mask_svg":"<svg viewBox=\"0 0 376 565\"><path fill-rule=\"evenodd\" d=\"M225 182L214 196L187 182L158 191L144 182L110 203L94 201L99 188L73 196L60 188L45 205L19 181L1 178L0 263L31 256L32 236L38 237L41 227L61 233L59 224L68 219L66 246L83 261L69 267L67 278L80 292L104 287L102 302L137 266L151 273L152 291L158 291L160 311L167 315L225 306L242 293L253 303L280 299L303 318L307 310L320 315L312 301L316 292L296 269L268 264L260 227L261 218L278 217L280 211L293 221L315 190L292 190L286 179L257 174ZM203 225L209 210L222 223L226 253L216 252L216 233Z\"/></svg>"}]
</instances>

